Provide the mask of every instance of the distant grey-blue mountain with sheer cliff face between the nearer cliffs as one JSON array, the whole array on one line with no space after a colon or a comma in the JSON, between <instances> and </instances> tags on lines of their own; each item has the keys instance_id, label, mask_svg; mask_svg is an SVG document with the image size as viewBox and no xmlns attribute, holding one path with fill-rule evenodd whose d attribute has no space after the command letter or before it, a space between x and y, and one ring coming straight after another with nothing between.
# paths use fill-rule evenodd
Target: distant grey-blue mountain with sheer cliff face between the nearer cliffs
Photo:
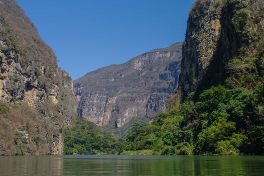
<instances>
[{"instance_id":1,"label":"distant grey-blue mountain with sheer cliff face between the nearer cliffs","mask_svg":"<svg viewBox=\"0 0 264 176\"><path fill-rule=\"evenodd\" d=\"M182 43L176 43L75 80L79 116L99 126L115 127L133 117L151 120L165 110L177 87L181 51Z\"/></svg>"}]
</instances>

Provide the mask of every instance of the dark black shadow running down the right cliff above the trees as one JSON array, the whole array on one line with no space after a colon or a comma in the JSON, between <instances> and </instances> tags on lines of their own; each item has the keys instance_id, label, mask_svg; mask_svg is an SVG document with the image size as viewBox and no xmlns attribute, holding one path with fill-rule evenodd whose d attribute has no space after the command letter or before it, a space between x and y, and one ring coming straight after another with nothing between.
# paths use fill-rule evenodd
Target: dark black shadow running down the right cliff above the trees
<instances>
[{"instance_id":1,"label":"dark black shadow running down the right cliff above the trees","mask_svg":"<svg viewBox=\"0 0 264 176\"><path fill-rule=\"evenodd\" d=\"M221 33L217 41L217 49L212 56L212 60L197 84L194 101L199 99L199 95L213 85L223 84L229 73L226 70L227 63L230 59L238 55L238 51L243 43L241 36L234 30L232 17L234 8L228 4L221 11L220 19Z\"/></svg>"}]
</instances>

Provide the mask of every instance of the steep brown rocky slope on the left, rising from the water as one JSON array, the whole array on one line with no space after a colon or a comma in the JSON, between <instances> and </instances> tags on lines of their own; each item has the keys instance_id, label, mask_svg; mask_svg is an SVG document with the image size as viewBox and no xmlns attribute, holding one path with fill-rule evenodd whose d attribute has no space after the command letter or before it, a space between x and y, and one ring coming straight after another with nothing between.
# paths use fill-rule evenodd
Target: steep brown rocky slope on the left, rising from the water
<instances>
[{"instance_id":1,"label":"steep brown rocky slope on the left, rising from the water","mask_svg":"<svg viewBox=\"0 0 264 176\"><path fill-rule=\"evenodd\" d=\"M0 155L62 154L73 82L14 0L0 1Z\"/></svg>"}]
</instances>

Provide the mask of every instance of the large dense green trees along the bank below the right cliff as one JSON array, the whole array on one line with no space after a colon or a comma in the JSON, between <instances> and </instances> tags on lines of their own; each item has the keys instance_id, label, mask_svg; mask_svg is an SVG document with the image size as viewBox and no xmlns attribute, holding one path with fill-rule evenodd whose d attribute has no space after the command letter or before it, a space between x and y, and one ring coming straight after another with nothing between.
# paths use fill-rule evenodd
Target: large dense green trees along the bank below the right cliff
<instances>
[{"instance_id":1,"label":"large dense green trees along the bank below the right cliff","mask_svg":"<svg viewBox=\"0 0 264 176\"><path fill-rule=\"evenodd\" d=\"M263 83L254 92L242 87L212 86L197 102L190 94L179 110L161 114L151 124L136 124L121 152L263 154L263 88Z\"/></svg>"}]
</instances>

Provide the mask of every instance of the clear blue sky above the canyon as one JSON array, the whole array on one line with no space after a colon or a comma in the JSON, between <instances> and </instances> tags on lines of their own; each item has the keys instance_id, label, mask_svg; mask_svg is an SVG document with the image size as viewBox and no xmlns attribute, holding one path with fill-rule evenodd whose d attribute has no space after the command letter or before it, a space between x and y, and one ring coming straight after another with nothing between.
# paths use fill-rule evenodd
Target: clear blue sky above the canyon
<instances>
[{"instance_id":1,"label":"clear blue sky above the canyon","mask_svg":"<svg viewBox=\"0 0 264 176\"><path fill-rule=\"evenodd\" d=\"M17 0L73 79L183 41L194 0Z\"/></svg>"}]
</instances>

